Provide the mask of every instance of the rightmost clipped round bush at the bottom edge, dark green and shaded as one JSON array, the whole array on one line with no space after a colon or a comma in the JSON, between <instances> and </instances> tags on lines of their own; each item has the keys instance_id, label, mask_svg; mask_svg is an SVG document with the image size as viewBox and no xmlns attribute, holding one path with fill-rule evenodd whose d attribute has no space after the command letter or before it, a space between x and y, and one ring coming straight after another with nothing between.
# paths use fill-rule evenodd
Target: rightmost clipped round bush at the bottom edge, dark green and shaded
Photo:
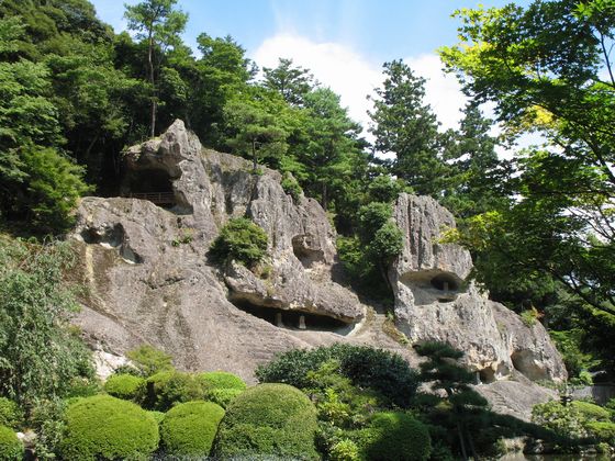
<instances>
[{"instance_id":1,"label":"rightmost clipped round bush at the bottom edge, dark green and shaded","mask_svg":"<svg viewBox=\"0 0 615 461\"><path fill-rule=\"evenodd\" d=\"M418 461L432 452L427 427L405 413L374 414L369 427L356 431L355 441L370 461Z\"/></svg>"}]
</instances>

